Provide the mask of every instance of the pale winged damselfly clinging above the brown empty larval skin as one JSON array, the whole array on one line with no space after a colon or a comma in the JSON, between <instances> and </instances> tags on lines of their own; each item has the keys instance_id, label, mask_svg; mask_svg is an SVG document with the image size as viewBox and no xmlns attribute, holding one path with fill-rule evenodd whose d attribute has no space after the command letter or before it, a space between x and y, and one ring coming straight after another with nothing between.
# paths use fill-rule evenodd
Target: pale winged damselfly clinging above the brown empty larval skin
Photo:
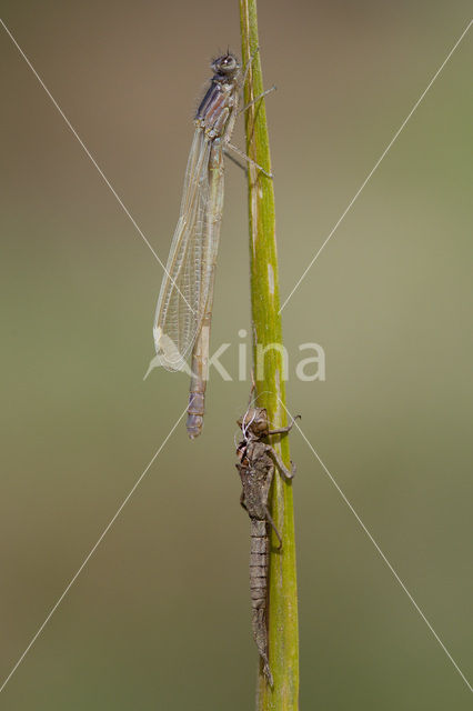
<instances>
[{"instance_id":1,"label":"pale winged damselfly clinging above the brown empty larval skin","mask_svg":"<svg viewBox=\"0 0 473 711\"><path fill-rule=\"evenodd\" d=\"M223 153L231 147L241 83L240 63L230 52L215 59L211 67L214 73L194 119L181 212L153 328L159 364L168 370L182 370L192 350L187 421L191 439L201 433L203 425L213 282L223 208Z\"/></svg>"}]
</instances>

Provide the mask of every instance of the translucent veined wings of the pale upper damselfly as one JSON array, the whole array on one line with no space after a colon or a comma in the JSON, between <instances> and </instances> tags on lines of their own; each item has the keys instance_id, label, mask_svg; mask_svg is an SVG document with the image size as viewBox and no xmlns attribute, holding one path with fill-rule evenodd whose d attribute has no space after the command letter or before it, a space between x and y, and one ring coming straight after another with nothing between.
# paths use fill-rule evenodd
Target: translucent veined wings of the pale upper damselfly
<instances>
[{"instance_id":1,"label":"translucent veined wings of the pale upper damselfly","mask_svg":"<svg viewBox=\"0 0 473 711\"><path fill-rule=\"evenodd\" d=\"M185 171L181 211L165 266L154 320L160 364L182 370L202 323L213 249L208 244L211 142L197 129Z\"/></svg>"}]
</instances>

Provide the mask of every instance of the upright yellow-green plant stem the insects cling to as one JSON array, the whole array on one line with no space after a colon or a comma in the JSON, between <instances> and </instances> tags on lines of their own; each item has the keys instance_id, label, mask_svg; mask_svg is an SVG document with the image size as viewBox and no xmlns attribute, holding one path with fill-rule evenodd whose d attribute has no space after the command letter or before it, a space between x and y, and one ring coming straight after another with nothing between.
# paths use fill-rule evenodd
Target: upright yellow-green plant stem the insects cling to
<instances>
[{"instance_id":1,"label":"upright yellow-green plant stem the insects cling to","mask_svg":"<svg viewBox=\"0 0 473 711\"><path fill-rule=\"evenodd\" d=\"M256 2L240 0L243 63L252 58L244 87L245 104L263 91L258 40ZM245 112L249 157L271 172L271 159L264 101ZM278 254L274 222L273 180L249 164L251 308L253 322L253 360L258 407L268 410L273 428L286 423L284 357L279 298ZM264 362L263 362L264 361ZM290 467L289 437L271 442ZM269 658L274 677L271 689L260 664L258 710L294 711L299 708L299 629L295 574L295 540L292 485L274 477L271 515L282 533L283 548L278 551L274 533L271 541L269 585Z\"/></svg>"}]
</instances>

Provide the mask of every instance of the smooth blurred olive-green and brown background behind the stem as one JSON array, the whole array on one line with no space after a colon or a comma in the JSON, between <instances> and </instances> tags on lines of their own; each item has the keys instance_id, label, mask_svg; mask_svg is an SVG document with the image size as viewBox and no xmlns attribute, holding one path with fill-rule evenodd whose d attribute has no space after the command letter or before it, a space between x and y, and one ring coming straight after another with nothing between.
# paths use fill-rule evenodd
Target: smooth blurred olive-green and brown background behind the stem
<instances>
[{"instance_id":1,"label":"smooth blurred olive-green and brown background behind the stem","mask_svg":"<svg viewBox=\"0 0 473 711\"><path fill-rule=\"evenodd\" d=\"M466 27L445 2L260 2L284 299ZM4 0L2 19L163 260L209 59L238 3ZM0 671L18 661L181 413L154 370L161 270L0 32ZM444 71L283 312L289 407L472 674L471 67ZM242 127L234 142L242 146ZM212 344L249 330L246 191L227 171ZM326 381L294 378L320 343ZM0 708L252 709L249 523L213 373L0 695ZM291 435L301 708L443 711L470 692L302 438Z\"/></svg>"}]
</instances>

